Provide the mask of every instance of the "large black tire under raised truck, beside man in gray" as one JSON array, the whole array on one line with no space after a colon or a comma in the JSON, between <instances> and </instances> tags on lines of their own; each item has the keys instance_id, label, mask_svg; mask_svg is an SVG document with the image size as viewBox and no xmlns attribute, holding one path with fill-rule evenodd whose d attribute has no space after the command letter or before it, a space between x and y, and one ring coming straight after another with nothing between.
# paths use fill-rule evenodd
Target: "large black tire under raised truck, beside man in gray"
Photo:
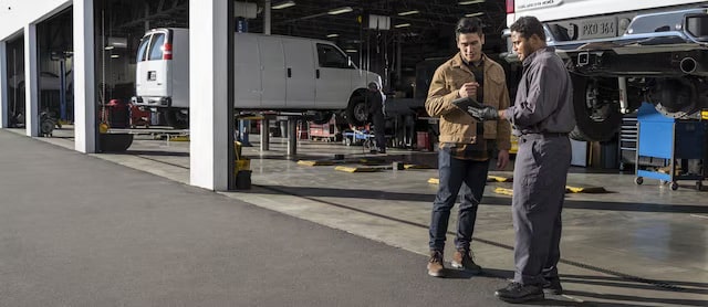
<instances>
[{"instance_id":1,"label":"large black tire under raised truck, beside man in gray","mask_svg":"<svg viewBox=\"0 0 708 307\"><path fill-rule=\"evenodd\" d=\"M616 78L591 78L571 74L575 129L571 138L587 141L612 139L622 124Z\"/></svg>"}]
</instances>

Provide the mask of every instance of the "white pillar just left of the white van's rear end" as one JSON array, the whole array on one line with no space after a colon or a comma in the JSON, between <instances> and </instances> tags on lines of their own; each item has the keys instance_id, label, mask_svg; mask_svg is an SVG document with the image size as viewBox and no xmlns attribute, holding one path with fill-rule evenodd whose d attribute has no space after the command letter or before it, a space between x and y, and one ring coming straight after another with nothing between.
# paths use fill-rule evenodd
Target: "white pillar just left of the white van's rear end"
<instances>
[{"instance_id":1,"label":"white pillar just left of the white van's rear end","mask_svg":"<svg viewBox=\"0 0 708 307\"><path fill-rule=\"evenodd\" d=\"M93 0L74 0L74 148L96 152Z\"/></svg>"}]
</instances>

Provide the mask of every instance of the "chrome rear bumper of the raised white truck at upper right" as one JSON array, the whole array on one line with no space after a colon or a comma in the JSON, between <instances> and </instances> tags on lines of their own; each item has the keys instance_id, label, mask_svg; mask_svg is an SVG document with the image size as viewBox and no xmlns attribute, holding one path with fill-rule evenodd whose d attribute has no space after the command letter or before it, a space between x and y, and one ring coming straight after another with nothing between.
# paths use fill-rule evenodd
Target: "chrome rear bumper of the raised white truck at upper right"
<instances>
[{"instance_id":1,"label":"chrome rear bumper of the raised white truck at upper right","mask_svg":"<svg viewBox=\"0 0 708 307\"><path fill-rule=\"evenodd\" d=\"M623 35L616 38L570 40L553 36L546 23L548 44L561 57L572 61L575 71L589 75L656 76L704 75L700 63L708 63L708 13L705 8L675 9L637 14ZM511 51L511 33L502 32ZM564 39L564 40L563 40ZM502 53L508 62L518 62L513 52Z\"/></svg>"}]
</instances>

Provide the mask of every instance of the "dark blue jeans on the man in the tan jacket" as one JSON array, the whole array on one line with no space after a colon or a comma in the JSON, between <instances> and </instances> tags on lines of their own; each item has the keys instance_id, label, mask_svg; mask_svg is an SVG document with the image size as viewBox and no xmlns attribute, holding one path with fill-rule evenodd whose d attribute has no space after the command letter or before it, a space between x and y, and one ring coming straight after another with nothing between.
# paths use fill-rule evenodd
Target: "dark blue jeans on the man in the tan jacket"
<instances>
[{"instance_id":1,"label":"dark blue jeans on the man in the tan jacket","mask_svg":"<svg viewBox=\"0 0 708 307\"><path fill-rule=\"evenodd\" d=\"M487 184L489 160L472 161L455 159L449 152L438 152L438 171L440 186L433 202L430 220L430 251L442 251L447 225L450 220L450 209L455 205L457 194L462 191L459 213L457 218L457 250L469 250L477 220L477 208L482 199ZM462 184L465 183L465 184Z\"/></svg>"}]
</instances>

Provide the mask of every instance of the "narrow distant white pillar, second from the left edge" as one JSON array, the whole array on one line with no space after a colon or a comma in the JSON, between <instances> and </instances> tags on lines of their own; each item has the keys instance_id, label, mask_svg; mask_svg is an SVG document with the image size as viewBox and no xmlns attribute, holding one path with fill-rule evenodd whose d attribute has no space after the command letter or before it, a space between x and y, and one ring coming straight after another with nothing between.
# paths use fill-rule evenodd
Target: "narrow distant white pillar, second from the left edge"
<instances>
[{"instance_id":1,"label":"narrow distant white pillar, second from the left edge","mask_svg":"<svg viewBox=\"0 0 708 307\"><path fill-rule=\"evenodd\" d=\"M37 25L24 27L24 125L27 135L40 135L40 95L38 88Z\"/></svg>"}]
</instances>

